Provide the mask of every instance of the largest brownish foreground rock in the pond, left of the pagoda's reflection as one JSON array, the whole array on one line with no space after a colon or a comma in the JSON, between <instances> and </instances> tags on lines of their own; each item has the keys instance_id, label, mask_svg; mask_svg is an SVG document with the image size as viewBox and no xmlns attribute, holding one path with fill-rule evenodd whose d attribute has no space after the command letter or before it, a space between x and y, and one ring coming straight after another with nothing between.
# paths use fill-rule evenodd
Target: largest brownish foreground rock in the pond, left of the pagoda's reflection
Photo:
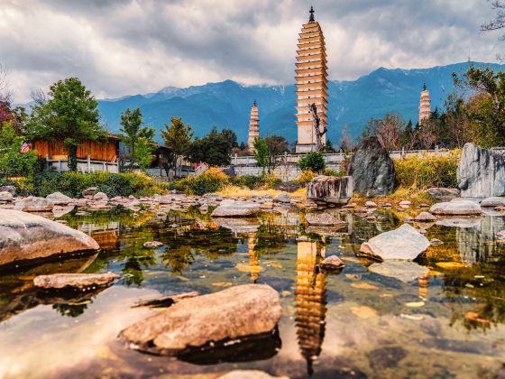
<instances>
[{"instance_id":1,"label":"largest brownish foreground rock in the pond, left of the pagoda's reflection","mask_svg":"<svg viewBox=\"0 0 505 379\"><path fill-rule=\"evenodd\" d=\"M181 300L125 328L119 339L133 349L177 356L191 348L271 333L281 313L277 291L245 284Z\"/></svg>"}]
</instances>

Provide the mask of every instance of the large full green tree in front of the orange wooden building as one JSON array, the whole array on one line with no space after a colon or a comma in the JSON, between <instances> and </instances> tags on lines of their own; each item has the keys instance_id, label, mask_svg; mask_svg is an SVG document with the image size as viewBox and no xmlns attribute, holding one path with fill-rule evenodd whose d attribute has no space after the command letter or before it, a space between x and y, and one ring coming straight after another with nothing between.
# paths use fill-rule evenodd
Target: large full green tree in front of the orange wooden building
<instances>
[{"instance_id":1,"label":"large full green tree in front of the orange wooden building","mask_svg":"<svg viewBox=\"0 0 505 379\"><path fill-rule=\"evenodd\" d=\"M78 78L59 80L50 86L49 100L33 106L28 133L32 138L63 143L69 151L69 169L76 171L78 146L106 137L97 106Z\"/></svg>"}]
</instances>

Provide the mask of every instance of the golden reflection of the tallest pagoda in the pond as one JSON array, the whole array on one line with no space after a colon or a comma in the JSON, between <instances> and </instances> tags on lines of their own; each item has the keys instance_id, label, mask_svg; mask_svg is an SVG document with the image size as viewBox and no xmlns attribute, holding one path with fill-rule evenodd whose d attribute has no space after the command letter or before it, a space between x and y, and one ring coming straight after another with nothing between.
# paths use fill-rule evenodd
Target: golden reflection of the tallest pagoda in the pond
<instances>
[{"instance_id":1,"label":"golden reflection of the tallest pagoda in the pond","mask_svg":"<svg viewBox=\"0 0 505 379\"><path fill-rule=\"evenodd\" d=\"M317 263L325 257L325 247L311 241L298 241L296 325L298 346L307 361L308 374L312 363L321 354L326 328L326 273L317 271Z\"/></svg>"}]
</instances>

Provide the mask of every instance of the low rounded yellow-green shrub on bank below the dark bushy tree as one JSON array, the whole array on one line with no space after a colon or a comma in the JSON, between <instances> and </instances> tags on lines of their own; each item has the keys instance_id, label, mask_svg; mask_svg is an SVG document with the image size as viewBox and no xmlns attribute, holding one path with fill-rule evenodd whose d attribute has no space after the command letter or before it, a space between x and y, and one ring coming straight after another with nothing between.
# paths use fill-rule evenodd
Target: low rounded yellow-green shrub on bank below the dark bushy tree
<instances>
[{"instance_id":1,"label":"low rounded yellow-green shrub on bank below the dark bushy tree","mask_svg":"<svg viewBox=\"0 0 505 379\"><path fill-rule=\"evenodd\" d=\"M178 180L171 186L188 195L203 195L222 189L228 180L229 177L225 172L211 167L198 176Z\"/></svg>"}]
</instances>

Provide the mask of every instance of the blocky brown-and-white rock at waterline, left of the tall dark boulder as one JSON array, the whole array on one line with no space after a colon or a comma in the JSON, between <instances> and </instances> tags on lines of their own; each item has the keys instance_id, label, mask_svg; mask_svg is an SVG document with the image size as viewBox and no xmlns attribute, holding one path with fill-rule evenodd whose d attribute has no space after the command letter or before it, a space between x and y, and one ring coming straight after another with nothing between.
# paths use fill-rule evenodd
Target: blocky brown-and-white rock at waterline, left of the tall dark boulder
<instances>
[{"instance_id":1,"label":"blocky brown-and-white rock at waterline, left of the tall dark boulder","mask_svg":"<svg viewBox=\"0 0 505 379\"><path fill-rule=\"evenodd\" d=\"M307 185L307 199L332 204L347 204L353 196L353 178L317 176Z\"/></svg>"}]
</instances>

